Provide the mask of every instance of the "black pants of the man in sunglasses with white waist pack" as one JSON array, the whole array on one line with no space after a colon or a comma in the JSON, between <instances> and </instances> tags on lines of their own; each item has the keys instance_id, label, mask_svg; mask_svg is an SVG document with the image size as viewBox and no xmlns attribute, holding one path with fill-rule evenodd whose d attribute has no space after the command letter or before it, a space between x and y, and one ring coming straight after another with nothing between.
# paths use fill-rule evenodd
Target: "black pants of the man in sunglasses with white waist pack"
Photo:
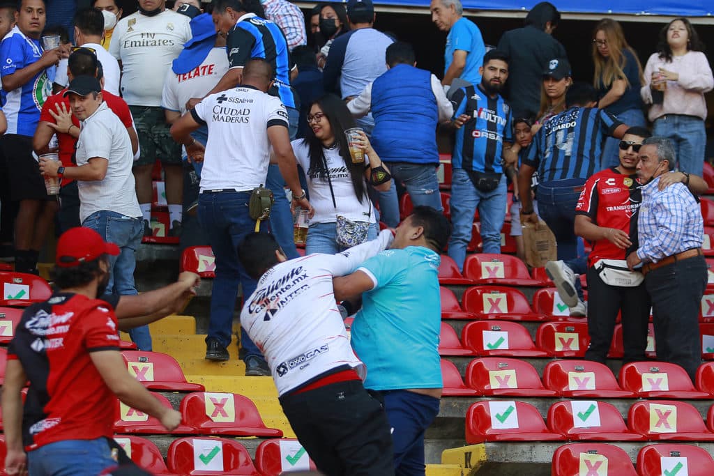
<instances>
[{"instance_id":1,"label":"black pants of the man in sunglasses with white waist pack","mask_svg":"<svg viewBox=\"0 0 714 476\"><path fill-rule=\"evenodd\" d=\"M645 359L647 328L650 320L650 296L645 284L623 288L603 283L595 268L588 268L588 334L590 347L585 358L605 363L613 341L615 320L622 311L623 362Z\"/></svg>"}]
</instances>

